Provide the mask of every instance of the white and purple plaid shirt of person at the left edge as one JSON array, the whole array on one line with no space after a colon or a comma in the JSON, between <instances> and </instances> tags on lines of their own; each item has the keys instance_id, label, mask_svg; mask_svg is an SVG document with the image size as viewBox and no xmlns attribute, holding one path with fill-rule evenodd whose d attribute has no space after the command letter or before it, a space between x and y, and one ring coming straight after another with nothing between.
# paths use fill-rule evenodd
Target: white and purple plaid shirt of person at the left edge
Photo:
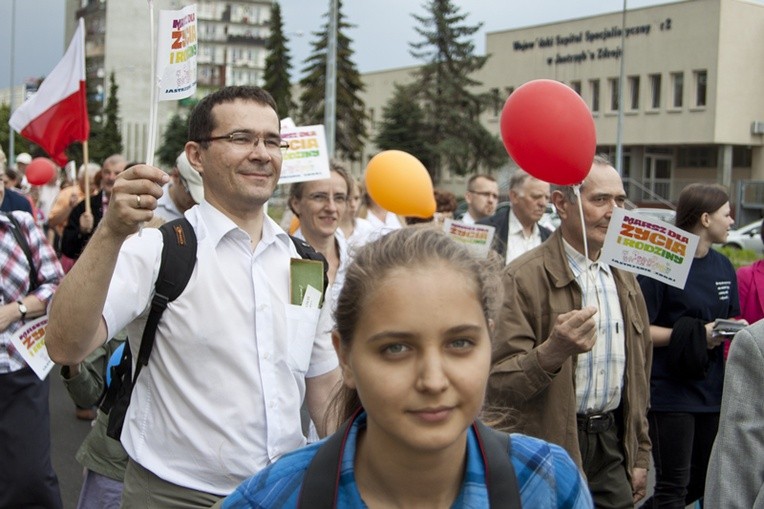
<instances>
[{"instance_id":1,"label":"white and purple plaid shirt of person at the left edge","mask_svg":"<svg viewBox=\"0 0 764 509\"><path fill-rule=\"evenodd\" d=\"M32 216L26 212L12 214L21 226L21 234L26 237L32 260L37 266L37 281L40 286L32 295L47 303L64 276L61 264L55 251L45 240L42 230L34 224ZM29 262L24 251L16 243L12 227L10 219L0 214L0 305L15 303L29 293ZM11 343L11 336L19 327L21 321L17 320L4 331L0 331L0 374L18 371L26 366L21 354Z\"/></svg>"}]
</instances>

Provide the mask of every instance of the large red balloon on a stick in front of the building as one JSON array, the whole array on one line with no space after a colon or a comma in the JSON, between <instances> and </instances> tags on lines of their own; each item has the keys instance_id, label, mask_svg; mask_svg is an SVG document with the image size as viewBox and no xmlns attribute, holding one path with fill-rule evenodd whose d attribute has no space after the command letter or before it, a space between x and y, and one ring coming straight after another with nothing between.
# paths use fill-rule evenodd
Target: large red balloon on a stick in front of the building
<instances>
[{"instance_id":1,"label":"large red balloon on a stick in front of the building","mask_svg":"<svg viewBox=\"0 0 764 509\"><path fill-rule=\"evenodd\" d=\"M522 169L558 185L581 183L597 150L589 107L554 80L529 81L509 96L501 112L501 138Z\"/></svg>"}]
</instances>

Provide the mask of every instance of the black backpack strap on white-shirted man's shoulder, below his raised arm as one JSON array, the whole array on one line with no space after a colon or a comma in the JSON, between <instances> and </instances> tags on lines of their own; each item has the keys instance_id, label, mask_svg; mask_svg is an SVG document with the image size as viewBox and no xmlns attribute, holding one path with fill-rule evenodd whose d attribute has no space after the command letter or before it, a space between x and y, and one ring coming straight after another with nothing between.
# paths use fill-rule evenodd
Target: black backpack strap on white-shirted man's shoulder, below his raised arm
<instances>
[{"instance_id":1,"label":"black backpack strap on white-shirted man's shoulder, below his raised arm","mask_svg":"<svg viewBox=\"0 0 764 509\"><path fill-rule=\"evenodd\" d=\"M133 384L138 379L141 368L149 362L157 326L164 310L167 309L167 304L183 293L196 265L196 233L188 219L182 217L165 223L159 231L162 232L164 240L162 263L154 285L151 310L141 337Z\"/></svg>"}]
</instances>

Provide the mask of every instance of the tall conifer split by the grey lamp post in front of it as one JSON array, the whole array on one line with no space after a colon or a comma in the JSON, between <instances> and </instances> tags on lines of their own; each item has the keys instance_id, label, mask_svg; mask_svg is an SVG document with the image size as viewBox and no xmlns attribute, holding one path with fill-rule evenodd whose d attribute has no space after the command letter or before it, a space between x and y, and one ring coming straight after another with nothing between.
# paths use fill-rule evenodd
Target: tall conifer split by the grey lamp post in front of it
<instances>
[{"instance_id":1,"label":"tall conifer split by the grey lamp post in front of it","mask_svg":"<svg viewBox=\"0 0 764 509\"><path fill-rule=\"evenodd\" d=\"M324 123L326 59L329 40L329 14L321 32L314 32L313 52L305 60L304 77L300 80L300 116L302 125ZM351 161L360 159L366 134L366 109L360 93L364 86L353 62L351 40L345 34L355 25L347 23L342 14L342 1L337 0L337 96L335 102L335 152Z\"/></svg>"}]
</instances>

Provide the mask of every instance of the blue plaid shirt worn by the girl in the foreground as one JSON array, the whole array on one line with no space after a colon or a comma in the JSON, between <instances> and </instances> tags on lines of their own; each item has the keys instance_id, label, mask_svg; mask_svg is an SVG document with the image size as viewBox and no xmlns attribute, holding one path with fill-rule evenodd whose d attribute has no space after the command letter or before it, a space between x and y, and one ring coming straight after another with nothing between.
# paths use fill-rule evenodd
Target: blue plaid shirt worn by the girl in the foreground
<instances>
[{"instance_id":1,"label":"blue plaid shirt worn by the girl in the foreground","mask_svg":"<svg viewBox=\"0 0 764 509\"><path fill-rule=\"evenodd\" d=\"M337 507L365 508L355 483L358 431L366 425L366 414L356 418L348 434L342 457ZM224 509L297 507L303 477L323 441L283 456L276 463L244 481L223 501ZM525 435L512 435L509 454L517 475L523 507L534 509L593 507L586 481L561 447ZM485 509L488 489L485 465L475 431L467 435L467 469L454 508Z\"/></svg>"}]
</instances>

